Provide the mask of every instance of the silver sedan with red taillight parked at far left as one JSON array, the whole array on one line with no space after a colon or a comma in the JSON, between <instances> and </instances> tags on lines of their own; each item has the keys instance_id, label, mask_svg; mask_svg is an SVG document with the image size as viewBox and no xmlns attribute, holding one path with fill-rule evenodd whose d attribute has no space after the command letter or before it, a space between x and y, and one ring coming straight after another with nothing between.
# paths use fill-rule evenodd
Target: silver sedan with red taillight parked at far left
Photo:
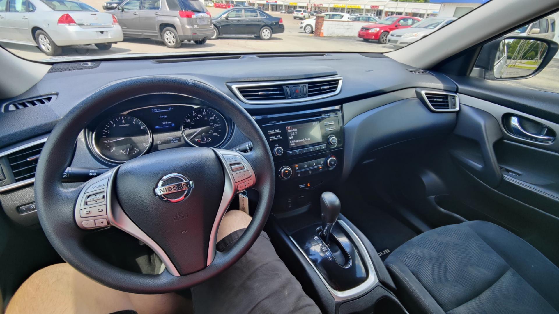
<instances>
[{"instance_id":1,"label":"silver sedan with red taillight parked at far left","mask_svg":"<svg viewBox=\"0 0 559 314\"><path fill-rule=\"evenodd\" d=\"M39 46L49 56L70 45L107 50L122 39L115 16L79 1L7 0L0 8L0 41Z\"/></svg>"}]
</instances>

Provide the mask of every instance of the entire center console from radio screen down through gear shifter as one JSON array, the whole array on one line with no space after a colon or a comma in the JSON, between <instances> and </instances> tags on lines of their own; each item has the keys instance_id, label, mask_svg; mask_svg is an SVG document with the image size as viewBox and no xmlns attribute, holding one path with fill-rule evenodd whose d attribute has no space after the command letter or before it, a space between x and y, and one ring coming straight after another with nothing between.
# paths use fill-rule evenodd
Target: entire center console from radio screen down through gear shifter
<instances>
[{"instance_id":1,"label":"entire center console from radio screen down through gear shifter","mask_svg":"<svg viewBox=\"0 0 559 314\"><path fill-rule=\"evenodd\" d=\"M266 231L323 313L406 313L371 242L340 215L342 106L255 116L276 168Z\"/></svg>"}]
</instances>

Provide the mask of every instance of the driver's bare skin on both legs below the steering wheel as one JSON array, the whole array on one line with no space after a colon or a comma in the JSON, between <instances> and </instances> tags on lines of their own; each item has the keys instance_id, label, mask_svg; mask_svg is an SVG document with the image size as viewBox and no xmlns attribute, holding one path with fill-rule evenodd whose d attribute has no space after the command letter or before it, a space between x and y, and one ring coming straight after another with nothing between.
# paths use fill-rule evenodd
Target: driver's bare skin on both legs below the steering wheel
<instances>
[{"instance_id":1,"label":"driver's bare skin on both legs below the steering wheel","mask_svg":"<svg viewBox=\"0 0 559 314\"><path fill-rule=\"evenodd\" d=\"M226 212L217 230L217 241L233 231L246 228L251 219L243 211ZM107 314L135 310L143 314L185 313L191 309L191 301L176 293L121 292L94 282L69 264L56 264L27 278L8 304L6 313Z\"/></svg>"}]
</instances>

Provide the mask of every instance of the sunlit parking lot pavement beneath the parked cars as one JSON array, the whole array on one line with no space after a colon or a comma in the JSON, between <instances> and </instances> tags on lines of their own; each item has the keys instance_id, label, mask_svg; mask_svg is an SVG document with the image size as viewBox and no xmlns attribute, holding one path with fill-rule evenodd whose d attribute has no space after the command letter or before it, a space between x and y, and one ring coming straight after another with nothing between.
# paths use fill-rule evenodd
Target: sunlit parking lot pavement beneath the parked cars
<instances>
[{"instance_id":1,"label":"sunlit parking lot pavement beneath the parked cars","mask_svg":"<svg viewBox=\"0 0 559 314\"><path fill-rule=\"evenodd\" d=\"M83 2L93 6L101 12L103 2L101 0L84 0ZM212 16L219 15L223 9L208 8ZM279 12L268 12L272 16L282 17L285 31L282 34L272 35L268 41L256 39L254 37L228 37L217 40L208 40L204 45L196 45L193 42L183 42L177 49L166 47L162 41L152 39L125 38L124 41L112 46L110 50L99 50L93 45L88 46L69 46L63 47L60 57L69 56L91 56L99 58L106 55L121 55L129 53L181 53L196 51L250 51L250 52L386 52L392 50L390 45L381 45L376 42L364 42L356 36L354 37L315 37L312 34L305 34L299 29L301 20L293 20L292 15ZM35 46L18 44L4 44L4 47L26 59L46 60L56 59L41 53ZM60 58L58 57L58 58Z\"/></svg>"}]
</instances>

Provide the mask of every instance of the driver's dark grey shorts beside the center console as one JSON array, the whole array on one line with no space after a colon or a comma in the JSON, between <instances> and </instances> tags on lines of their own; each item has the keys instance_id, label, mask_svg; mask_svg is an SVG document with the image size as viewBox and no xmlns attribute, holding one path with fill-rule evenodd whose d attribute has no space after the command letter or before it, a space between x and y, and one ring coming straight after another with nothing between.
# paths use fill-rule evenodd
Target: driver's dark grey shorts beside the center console
<instances>
[{"instance_id":1,"label":"driver's dark grey shorts beside the center console","mask_svg":"<svg viewBox=\"0 0 559 314\"><path fill-rule=\"evenodd\" d=\"M217 242L224 251L243 234L237 230ZM195 314L320 313L262 232L239 261L192 288Z\"/></svg>"}]
</instances>

